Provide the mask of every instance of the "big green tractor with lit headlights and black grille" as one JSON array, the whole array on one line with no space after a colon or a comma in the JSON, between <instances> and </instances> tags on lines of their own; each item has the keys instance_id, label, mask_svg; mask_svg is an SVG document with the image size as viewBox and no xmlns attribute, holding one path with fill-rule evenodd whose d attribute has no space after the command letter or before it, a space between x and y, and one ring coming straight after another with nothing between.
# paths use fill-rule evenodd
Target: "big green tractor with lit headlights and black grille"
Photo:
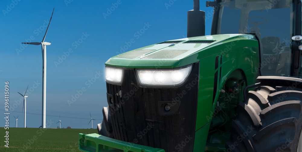
<instances>
[{"instance_id":1,"label":"big green tractor with lit headlights and black grille","mask_svg":"<svg viewBox=\"0 0 302 152\"><path fill-rule=\"evenodd\" d=\"M194 0L188 38L106 63L108 107L87 152L301 152L301 0Z\"/></svg>"}]
</instances>

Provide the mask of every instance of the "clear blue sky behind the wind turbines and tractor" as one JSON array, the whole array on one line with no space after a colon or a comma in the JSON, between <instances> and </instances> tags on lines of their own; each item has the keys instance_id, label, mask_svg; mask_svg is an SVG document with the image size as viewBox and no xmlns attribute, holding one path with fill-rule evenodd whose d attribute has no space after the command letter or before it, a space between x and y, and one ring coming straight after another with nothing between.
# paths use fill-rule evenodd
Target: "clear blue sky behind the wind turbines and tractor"
<instances>
[{"instance_id":1,"label":"clear blue sky behind the wind turbines and tractor","mask_svg":"<svg viewBox=\"0 0 302 152\"><path fill-rule=\"evenodd\" d=\"M102 107L108 106L104 63L121 47L131 51L186 37L187 11L193 8L193 1L4 0L0 6L0 88L4 90L4 82L9 81L10 127L15 125L13 116L19 116L18 127L24 126L23 97L17 92L24 93L27 85L26 126L41 125L41 47L21 42L41 42L55 8L45 39L51 41L47 46L46 120L54 122L50 128L57 128L61 115L61 128L91 128L87 125L90 112L96 128L103 119ZM210 35L213 8L201 1L201 10L210 18L206 20L206 35ZM141 30L146 24L149 28ZM135 42L128 47L131 39ZM86 91L68 103L83 87ZM3 92L1 96L4 116ZM4 127L5 120L1 122Z\"/></svg>"}]
</instances>

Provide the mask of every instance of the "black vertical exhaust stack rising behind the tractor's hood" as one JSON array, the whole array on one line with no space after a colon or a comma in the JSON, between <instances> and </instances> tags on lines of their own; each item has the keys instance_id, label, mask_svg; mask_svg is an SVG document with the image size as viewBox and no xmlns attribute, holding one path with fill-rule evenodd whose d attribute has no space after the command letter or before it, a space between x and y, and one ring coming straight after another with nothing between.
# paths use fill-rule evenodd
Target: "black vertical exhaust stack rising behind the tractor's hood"
<instances>
[{"instance_id":1,"label":"black vertical exhaust stack rising behind the tractor's hood","mask_svg":"<svg viewBox=\"0 0 302 152\"><path fill-rule=\"evenodd\" d=\"M205 12L199 10L199 0L193 0L193 10L188 11L187 37L205 35Z\"/></svg>"}]
</instances>

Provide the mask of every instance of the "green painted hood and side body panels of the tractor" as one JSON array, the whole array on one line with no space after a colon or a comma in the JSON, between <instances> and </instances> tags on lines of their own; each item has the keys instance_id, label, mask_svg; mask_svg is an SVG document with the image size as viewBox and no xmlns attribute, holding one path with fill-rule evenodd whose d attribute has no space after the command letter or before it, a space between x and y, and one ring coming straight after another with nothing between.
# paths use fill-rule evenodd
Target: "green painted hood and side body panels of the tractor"
<instances>
[{"instance_id":1,"label":"green painted hood and side body panels of the tractor","mask_svg":"<svg viewBox=\"0 0 302 152\"><path fill-rule=\"evenodd\" d=\"M203 151L206 147L207 134L217 99L226 80L240 70L245 77L246 85L255 84L259 68L259 42L254 35L223 34L200 36L185 39L175 45L154 44L129 51L110 58L105 65L122 68L175 68L199 62L198 105L195 126L194 152ZM188 43L192 41L213 41L212 43ZM169 42L169 41L168 41ZM141 51L149 50L149 51ZM165 51L167 50L167 51ZM171 52L175 54L163 54ZM135 52L137 51L137 53ZM141 52L147 52L137 56ZM179 53L180 52L180 53ZM127 54L131 53L131 54ZM153 55L152 55L153 54ZM132 56L133 55L133 56ZM125 57L127 58L121 58ZM151 57L148 57L151 56ZM215 69L218 57L218 68ZM143 59L148 58L148 59ZM151 58L151 59L150 59ZM217 94L214 92L214 75L218 72ZM214 98L214 101L213 101ZM209 118L210 119L207 119ZM104 144L111 141L102 139ZM203 149L203 150L202 150Z\"/></svg>"}]
</instances>

